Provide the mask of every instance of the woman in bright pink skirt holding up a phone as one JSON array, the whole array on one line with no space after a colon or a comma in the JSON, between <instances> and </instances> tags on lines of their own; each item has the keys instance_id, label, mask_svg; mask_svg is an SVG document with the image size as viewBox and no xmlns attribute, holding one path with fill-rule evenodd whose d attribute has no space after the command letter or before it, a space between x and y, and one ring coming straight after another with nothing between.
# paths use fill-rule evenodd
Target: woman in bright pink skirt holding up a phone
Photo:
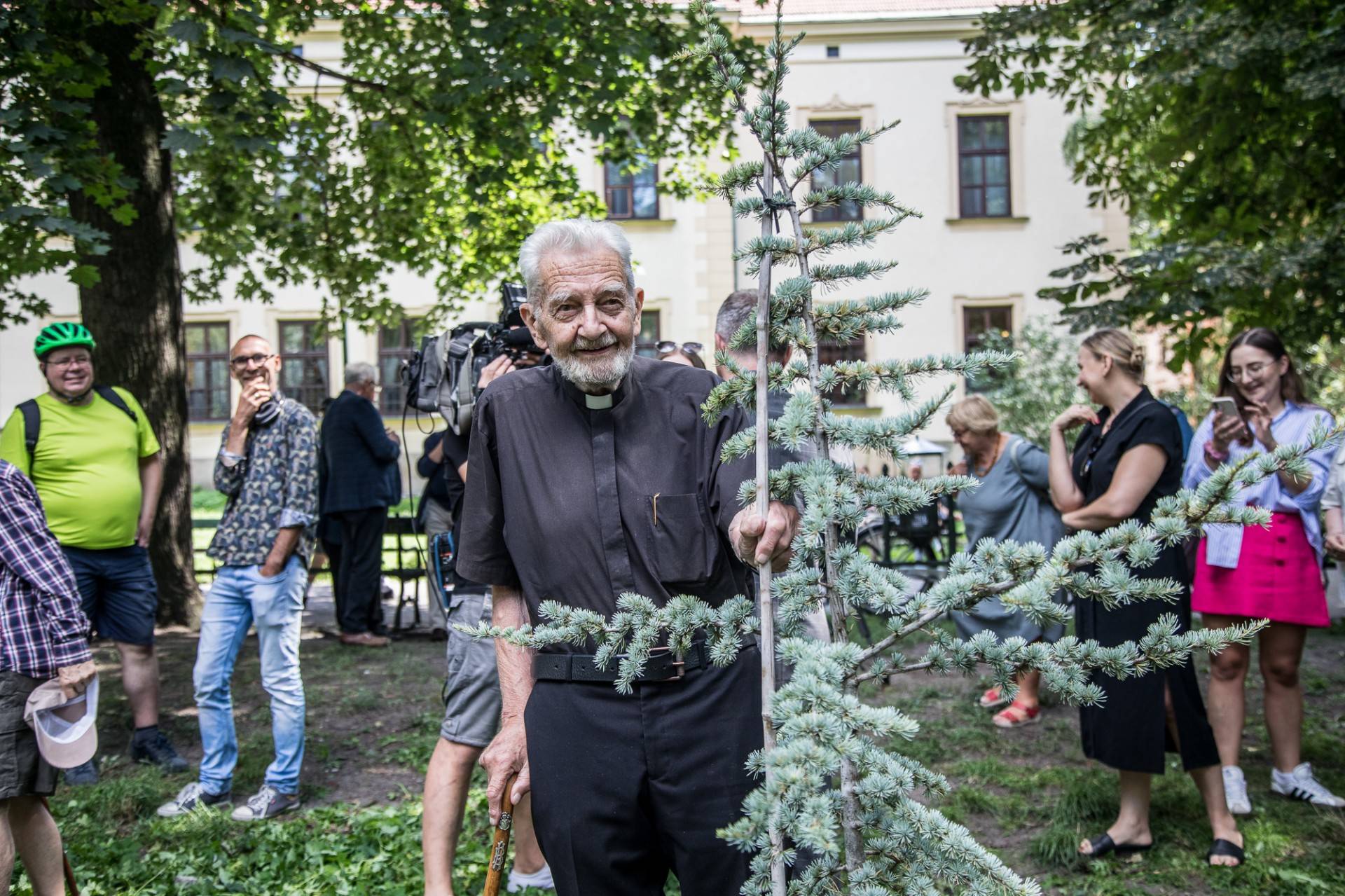
<instances>
[{"instance_id":1,"label":"woman in bright pink skirt holding up a phone","mask_svg":"<svg viewBox=\"0 0 1345 896\"><path fill-rule=\"evenodd\" d=\"M1194 488L1219 468L1250 452L1302 443L1332 416L1309 404L1294 362L1279 336L1264 328L1247 330L1224 355L1219 394L1232 398L1236 414L1216 408L1200 424L1186 460L1185 484ZM1330 470L1332 449L1309 456L1306 479L1279 474L1243 488L1236 503L1271 511L1270 529L1206 526L1196 557L1192 609L1205 626L1223 628L1248 619L1270 619L1258 651L1266 679L1266 726L1270 729L1275 768L1271 790L1318 806L1345 806L1313 776L1299 749L1303 728L1303 689L1298 665L1309 627L1325 627L1326 592L1322 588L1322 529L1319 506ZM1245 718L1244 682L1251 648L1232 644L1210 658L1209 721L1219 743L1228 809L1252 810L1247 780L1237 764Z\"/></svg>"}]
</instances>

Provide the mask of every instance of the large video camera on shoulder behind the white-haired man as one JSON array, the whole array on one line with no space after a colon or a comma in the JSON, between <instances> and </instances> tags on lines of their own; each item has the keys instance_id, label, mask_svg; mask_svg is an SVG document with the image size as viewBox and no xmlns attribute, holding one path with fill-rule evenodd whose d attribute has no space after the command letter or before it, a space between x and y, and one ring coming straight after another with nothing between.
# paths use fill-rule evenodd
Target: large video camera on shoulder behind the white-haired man
<instances>
[{"instance_id":1,"label":"large video camera on shoulder behind the white-haired man","mask_svg":"<svg viewBox=\"0 0 1345 896\"><path fill-rule=\"evenodd\" d=\"M496 322L461 323L421 339L421 348L402 369L406 405L440 412L459 436L472 426L472 413L482 394L482 370L500 355L529 366L550 363L546 350L533 342L523 326L527 289L500 284L500 316Z\"/></svg>"}]
</instances>

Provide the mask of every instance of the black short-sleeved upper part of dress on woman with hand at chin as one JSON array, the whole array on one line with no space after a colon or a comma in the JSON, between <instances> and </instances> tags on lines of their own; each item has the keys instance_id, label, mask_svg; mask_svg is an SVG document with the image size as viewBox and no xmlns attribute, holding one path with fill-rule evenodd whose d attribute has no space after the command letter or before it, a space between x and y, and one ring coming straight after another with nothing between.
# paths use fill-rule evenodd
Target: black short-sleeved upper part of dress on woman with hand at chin
<instances>
[{"instance_id":1,"label":"black short-sleeved upper part of dress on woman with hand at chin","mask_svg":"<svg viewBox=\"0 0 1345 896\"><path fill-rule=\"evenodd\" d=\"M1106 436L1102 435L1102 428L1111 412L1103 408L1098 416L1099 421L1084 426L1075 443L1075 483L1084 492L1084 500L1092 503L1111 488L1122 455L1135 445L1157 445L1166 455L1167 463L1158 482L1135 510L1135 519L1147 523L1158 499L1176 495L1181 490L1181 426L1167 405L1157 401L1145 387L1141 387L1139 394L1120 409L1116 422Z\"/></svg>"}]
</instances>

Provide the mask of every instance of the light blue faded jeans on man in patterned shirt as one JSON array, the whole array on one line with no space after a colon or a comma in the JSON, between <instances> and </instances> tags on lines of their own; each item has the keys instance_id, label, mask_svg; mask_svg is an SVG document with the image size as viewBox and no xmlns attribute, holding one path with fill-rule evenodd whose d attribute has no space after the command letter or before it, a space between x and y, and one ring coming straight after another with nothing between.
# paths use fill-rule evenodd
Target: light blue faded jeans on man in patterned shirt
<instances>
[{"instance_id":1,"label":"light blue faded jeans on man in patterned shirt","mask_svg":"<svg viewBox=\"0 0 1345 896\"><path fill-rule=\"evenodd\" d=\"M192 683L200 716L200 786L210 794L233 788L238 764L234 705L229 679L247 628L257 624L261 685L270 694L270 736L276 760L266 783L282 794L299 791L304 761L304 682L299 677L299 630L308 570L299 556L272 578L260 566L223 566L200 613L200 642Z\"/></svg>"}]
</instances>

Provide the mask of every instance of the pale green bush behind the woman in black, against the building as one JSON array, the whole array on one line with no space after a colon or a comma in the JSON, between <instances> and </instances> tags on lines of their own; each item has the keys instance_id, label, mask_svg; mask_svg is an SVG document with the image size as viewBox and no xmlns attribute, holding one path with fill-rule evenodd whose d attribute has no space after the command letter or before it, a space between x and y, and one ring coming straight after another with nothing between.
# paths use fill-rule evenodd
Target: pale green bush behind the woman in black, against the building
<instances>
[{"instance_id":1,"label":"pale green bush behind the woman in black, against the building","mask_svg":"<svg viewBox=\"0 0 1345 896\"><path fill-rule=\"evenodd\" d=\"M1050 320L1033 318L1013 336L991 332L981 344L1015 354L981 381L982 394L999 410L1001 432L1018 433L1045 448L1050 444L1050 421L1079 398L1079 343Z\"/></svg>"}]
</instances>

